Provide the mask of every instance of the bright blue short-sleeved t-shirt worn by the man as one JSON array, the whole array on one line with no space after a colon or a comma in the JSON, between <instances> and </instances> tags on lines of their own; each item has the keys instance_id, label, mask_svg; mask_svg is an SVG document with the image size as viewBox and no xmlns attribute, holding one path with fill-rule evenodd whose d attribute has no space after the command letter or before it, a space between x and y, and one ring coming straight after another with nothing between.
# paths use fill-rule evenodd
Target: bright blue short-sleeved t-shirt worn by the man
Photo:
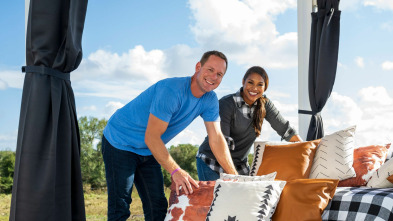
<instances>
[{"instance_id":1,"label":"bright blue short-sleeved t-shirt worn by the man","mask_svg":"<svg viewBox=\"0 0 393 221\"><path fill-rule=\"evenodd\" d=\"M191 77L168 78L138 95L109 119L104 136L112 146L142 156L152 155L145 144L149 115L168 123L161 136L166 144L199 115L204 121L219 121L216 93L196 98L191 92Z\"/></svg>"}]
</instances>

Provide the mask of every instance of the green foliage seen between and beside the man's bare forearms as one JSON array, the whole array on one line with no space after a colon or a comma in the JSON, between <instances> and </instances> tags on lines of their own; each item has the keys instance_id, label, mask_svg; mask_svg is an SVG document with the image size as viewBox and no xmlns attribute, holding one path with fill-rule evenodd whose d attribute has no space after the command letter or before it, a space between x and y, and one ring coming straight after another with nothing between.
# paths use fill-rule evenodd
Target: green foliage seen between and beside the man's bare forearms
<instances>
[{"instance_id":1,"label":"green foliage seen between and beside the man's bare forearms","mask_svg":"<svg viewBox=\"0 0 393 221\"><path fill-rule=\"evenodd\" d=\"M192 178L198 180L198 172L196 169L196 153L198 152L198 146L191 144L179 144L177 146L171 146L168 149L169 153L179 164L180 168L187 171ZM164 175L164 185L169 187L171 185L171 175L162 168Z\"/></svg>"}]
</instances>

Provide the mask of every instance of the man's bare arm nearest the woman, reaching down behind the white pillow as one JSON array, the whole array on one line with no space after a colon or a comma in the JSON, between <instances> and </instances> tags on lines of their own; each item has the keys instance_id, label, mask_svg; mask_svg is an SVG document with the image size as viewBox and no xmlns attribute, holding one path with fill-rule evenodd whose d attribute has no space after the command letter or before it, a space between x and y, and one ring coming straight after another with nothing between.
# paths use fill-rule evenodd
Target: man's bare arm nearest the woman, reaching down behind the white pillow
<instances>
[{"instance_id":1,"label":"man's bare arm nearest the woman, reaching down behind the white pillow","mask_svg":"<svg viewBox=\"0 0 393 221\"><path fill-rule=\"evenodd\" d=\"M224 135L221 132L220 122L205 121L205 127L209 137L210 148L218 163L224 169L225 173L237 174L227 142L225 141Z\"/></svg>"}]
</instances>

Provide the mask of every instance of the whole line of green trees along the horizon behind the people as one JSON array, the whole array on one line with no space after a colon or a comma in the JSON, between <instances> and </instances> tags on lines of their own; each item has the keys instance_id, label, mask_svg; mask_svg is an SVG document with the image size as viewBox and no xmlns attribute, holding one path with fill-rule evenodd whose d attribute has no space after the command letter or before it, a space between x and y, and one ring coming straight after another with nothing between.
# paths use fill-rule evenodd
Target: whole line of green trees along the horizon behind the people
<instances>
[{"instance_id":1,"label":"whole line of green trees along the horizon behind the people","mask_svg":"<svg viewBox=\"0 0 393 221\"><path fill-rule=\"evenodd\" d=\"M101 138L107 124L106 119L95 117L80 117L80 163L84 189L94 190L106 187L105 167L101 154ZM179 166L186 170L194 179L198 179L195 155L197 145L179 144L168 148L169 153ZM249 162L252 155L249 155ZM251 162L250 162L251 163ZM0 151L0 193L11 193L14 176L15 152ZM171 185L171 175L161 168L164 175L164 185Z\"/></svg>"}]
</instances>

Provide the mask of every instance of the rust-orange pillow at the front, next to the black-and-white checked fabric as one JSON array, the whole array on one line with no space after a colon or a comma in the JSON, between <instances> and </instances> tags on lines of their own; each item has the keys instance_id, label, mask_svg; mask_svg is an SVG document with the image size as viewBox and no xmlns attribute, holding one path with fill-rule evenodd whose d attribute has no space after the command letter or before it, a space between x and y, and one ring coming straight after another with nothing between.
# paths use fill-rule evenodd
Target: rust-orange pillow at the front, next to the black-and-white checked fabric
<instances>
[{"instance_id":1,"label":"rust-orange pillow at the front, next to the black-and-white checked fabric","mask_svg":"<svg viewBox=\"0 0 393 221\"><path fill-rule=\"evenodd\" d=\"M333 198L337 184L335 179L287 181L272 220L322 220L323 210Z\"/></svg>"}]
</instances>

